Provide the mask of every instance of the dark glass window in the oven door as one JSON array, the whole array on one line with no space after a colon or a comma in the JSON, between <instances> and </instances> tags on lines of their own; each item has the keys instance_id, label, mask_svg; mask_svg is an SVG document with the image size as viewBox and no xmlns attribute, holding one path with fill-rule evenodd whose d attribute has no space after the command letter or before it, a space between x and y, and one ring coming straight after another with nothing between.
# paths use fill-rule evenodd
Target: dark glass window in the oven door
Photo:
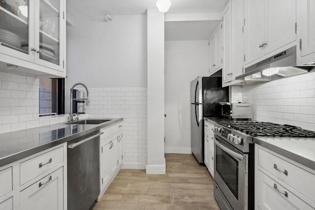
<instances>
[{"instance_id":1,"label":"dark glass window in the oven door","mask_svg":"<svg viewBox=\"0 0 315 210\"><path fill-rule=\"evenodd\" d=\"M216 146L216 170L238 200L238 161Z\"/></svg>"}]
</instances>

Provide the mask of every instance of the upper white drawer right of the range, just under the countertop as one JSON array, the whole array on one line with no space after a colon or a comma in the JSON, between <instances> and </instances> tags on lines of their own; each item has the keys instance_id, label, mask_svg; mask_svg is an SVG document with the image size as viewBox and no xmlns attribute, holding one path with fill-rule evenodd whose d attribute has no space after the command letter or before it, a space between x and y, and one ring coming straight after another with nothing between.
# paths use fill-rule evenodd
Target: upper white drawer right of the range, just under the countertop
<instances>
[{"instance_id":1,"label":"upper white drawer right of the range, just under the countertop","mask_svg":"<svg viewBox=\"0 0 315 210\"><path fill-rule=\"evenodd\" d=\"M258 148L258 165L315 202L314 174L260 148Z\"/></svg>"}]
</instances>

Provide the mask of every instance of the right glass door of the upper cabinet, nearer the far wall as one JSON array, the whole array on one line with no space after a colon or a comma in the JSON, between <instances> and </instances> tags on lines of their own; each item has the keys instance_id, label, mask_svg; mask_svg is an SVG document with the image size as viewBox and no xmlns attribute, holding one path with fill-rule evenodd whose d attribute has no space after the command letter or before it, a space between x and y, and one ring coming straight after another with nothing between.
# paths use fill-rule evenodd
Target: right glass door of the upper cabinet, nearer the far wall
<instances>
[{"instance_id":1,"label":"right glass door of the upper cabinet, nearer the far wall","mask_svg":"<svg viewBox=\"0 0 315 210\"><path fill-rule=\"evenodd\" d=\"M35 62L58 69L63 63L63 11L61 0L37 0L35 11ZM38 14L39 12L39 14Z\"/></svg>"}]
</instances>

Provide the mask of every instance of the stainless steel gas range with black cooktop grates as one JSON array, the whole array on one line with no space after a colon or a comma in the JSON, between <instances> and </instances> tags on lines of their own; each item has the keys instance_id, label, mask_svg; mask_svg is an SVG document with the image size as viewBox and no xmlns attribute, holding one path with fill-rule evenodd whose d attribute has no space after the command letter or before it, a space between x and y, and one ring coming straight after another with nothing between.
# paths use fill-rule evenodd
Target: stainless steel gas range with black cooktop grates
<instances>
[{"instance_id":1,"label":"stainless steel gas range with black cooktop grates","mask_svg":"<svg viewBox=\"0 0 315 210\"><path fill-rule=\"evenodd\" d=\"M254 209L253 137L315 137L314 131L271 122L215 124L214 194L222 210Z\"/></svg>"}]
</instances>

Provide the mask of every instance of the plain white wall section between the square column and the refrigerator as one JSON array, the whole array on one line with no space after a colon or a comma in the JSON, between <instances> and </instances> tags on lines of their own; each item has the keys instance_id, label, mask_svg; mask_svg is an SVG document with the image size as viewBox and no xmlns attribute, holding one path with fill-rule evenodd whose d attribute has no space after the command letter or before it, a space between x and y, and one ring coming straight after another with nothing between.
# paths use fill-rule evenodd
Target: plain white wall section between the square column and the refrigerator
<instances>
[{"instance_id":1,"label":"plain white wall section between the square column and the refrigerator","mask_svg":"<svg viewBox=\"0 0 315 210\"><path fill-rule=\"evenodd\" d=\"M208 71L208 40L165 41L166 153L191 153L190 81Z\"/></svg>"}]
</instances>

